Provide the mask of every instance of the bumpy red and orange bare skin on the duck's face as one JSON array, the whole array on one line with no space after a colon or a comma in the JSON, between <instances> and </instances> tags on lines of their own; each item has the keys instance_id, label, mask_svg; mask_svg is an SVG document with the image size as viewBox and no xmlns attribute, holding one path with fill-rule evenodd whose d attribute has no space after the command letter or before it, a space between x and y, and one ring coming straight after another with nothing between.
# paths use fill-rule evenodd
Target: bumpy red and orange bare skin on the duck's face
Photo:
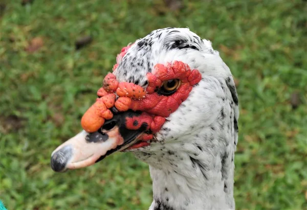
<instances>
[{"instance_id":1,"label":"bumpy red and orange bare skin on the duck's face","mask_svg":"<svg viewBox=\"0 0 307 210\"><path fill-rule=\"evenodd\" d=\"M131 45L130 45L131 46ZM118 56L123 57L127 46ZM118 65L114 66L114 71ZM172 112L176 111L180 104L185 101L193 85L201 81L202 75L197 69L191 71L190 67L181 62L173 61L167 65L157 64L153 69L153 74L148 73L148 86L144 90L141 86L134 83L118 82L115 75L109 73L103 80L103 87L97 92L97 101L84 113L81 125L87 132L97 131L104 123L105 119L113 118L109 110L115 106L119 111L142 111L139 116L126 118L126 128L130 130L150 130L150 134L143 133L139 137L139 142L129 149L148 146L153 134L158 132L166 119ZM159 95L156 90L160 88L163 82L179 79L181 81L177 91L170 96ZM117 94L118 98L115 100Z\"/></svg>"}]
</instances>

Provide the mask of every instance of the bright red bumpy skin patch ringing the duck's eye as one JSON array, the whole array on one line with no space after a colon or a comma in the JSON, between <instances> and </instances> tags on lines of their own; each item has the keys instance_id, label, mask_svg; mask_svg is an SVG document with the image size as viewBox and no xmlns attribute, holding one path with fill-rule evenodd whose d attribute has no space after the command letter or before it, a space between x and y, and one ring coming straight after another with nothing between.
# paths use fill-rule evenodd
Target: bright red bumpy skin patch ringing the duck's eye
<instances>
[{"instance_id":1,"label":"bright red bumpy skin patch ringing the duck's eye","mask_svg":"<svg viewBox=\"0 0 307 210\"><path fill-rule=\"evenodd\" d=\"M192 86L202 79L198 70L191 71L190 67L181 61L168 63L167 66L157 64L153 72L155 75L147 74L148 87L145 98L140 101L132 101L130 109L144 110L165 118L178 109L179 105L188 98ZM161 87L164 81L171 79L181 80L181 85L174 94L163 96L154 92L156 87Z\"/></svg>"}]
</instances>

